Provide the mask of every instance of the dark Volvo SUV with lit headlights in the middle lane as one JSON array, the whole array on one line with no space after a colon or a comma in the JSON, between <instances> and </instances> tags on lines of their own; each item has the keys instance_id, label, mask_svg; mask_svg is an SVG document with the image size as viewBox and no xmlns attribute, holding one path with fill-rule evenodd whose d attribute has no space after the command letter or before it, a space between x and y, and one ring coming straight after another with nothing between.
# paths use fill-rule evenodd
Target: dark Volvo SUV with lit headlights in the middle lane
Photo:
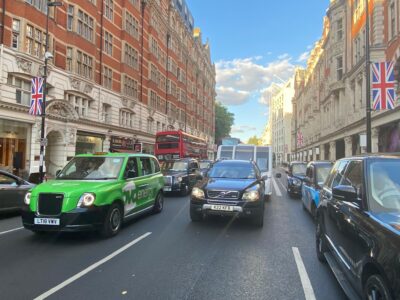
<instances>
[{"instance_id":1,"label":"dark Volvo SUV with lit headlights in the middle lane","mask_svg":"<svg viewBox=\"0 0 400 300\"><path fill-rule=\"evenodd\" d=\"M265 178L253 161L217 161L199 182L190 197L193 222L206 215L249 218L263 226Z\"/></svg>"}]
</instances>

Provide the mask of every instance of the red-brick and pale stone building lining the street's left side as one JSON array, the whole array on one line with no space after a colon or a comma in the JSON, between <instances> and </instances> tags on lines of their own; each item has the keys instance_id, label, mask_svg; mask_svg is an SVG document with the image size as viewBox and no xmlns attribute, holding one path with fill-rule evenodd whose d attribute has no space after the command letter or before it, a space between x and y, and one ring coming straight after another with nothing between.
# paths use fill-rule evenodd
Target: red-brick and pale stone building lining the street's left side
<instances>
[{"instance_id":1,"label":"red-brick and pale stone building lining the street's left side","mask_svg":"<svg viewBox=\"0 0 400 300\"><path fill-rule=\"evenodd\" d=\"M184 130L213 151L215 66L183 0L62 0L50 8L47 173L78 153ZM0 0L0 167L38 171L41 118L28 114L43 74L47 0Z\"/></svg>"}]
</instances>

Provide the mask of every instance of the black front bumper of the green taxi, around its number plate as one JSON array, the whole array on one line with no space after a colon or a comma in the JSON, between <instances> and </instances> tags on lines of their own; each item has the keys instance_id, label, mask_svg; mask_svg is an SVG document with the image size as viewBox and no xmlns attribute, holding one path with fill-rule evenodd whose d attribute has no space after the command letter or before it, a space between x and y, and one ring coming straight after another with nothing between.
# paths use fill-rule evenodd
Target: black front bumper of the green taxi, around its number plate
<instances>
[{"instance_id":1,"label":"black front bumper of the green taxi, around its number plate","mask_svg":"<svg viewBox=\"0 0 400 300\"><path fill-rule=\"evenodd\" d=\"M88 231L99 229L106 217L109 206L76 208L73 211L61 213L58 216L42 216L29 208L23 208L22 224L26 229L37 231ZM60 225L37 225L35 218L59 219Z\"/></svg>"}]
</instances>

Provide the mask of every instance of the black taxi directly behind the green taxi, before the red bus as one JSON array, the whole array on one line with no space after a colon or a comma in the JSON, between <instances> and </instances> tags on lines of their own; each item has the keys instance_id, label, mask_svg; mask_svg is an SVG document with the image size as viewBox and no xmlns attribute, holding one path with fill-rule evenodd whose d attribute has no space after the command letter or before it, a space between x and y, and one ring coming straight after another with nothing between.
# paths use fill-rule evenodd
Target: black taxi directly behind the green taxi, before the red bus
<instances>
[{"instance_id":1,"label":"black taxi directly behind the green taxi, before the red bus","mask_svg":"<svg viewBox=\"0 0 400 300\"><path fill-rule=\"evenodd\" d=\"M163 161L161 169L165 182L164 193L177 192L186 196L203 178L199 162L194 158Z\"/></svg>"}]
</instances>

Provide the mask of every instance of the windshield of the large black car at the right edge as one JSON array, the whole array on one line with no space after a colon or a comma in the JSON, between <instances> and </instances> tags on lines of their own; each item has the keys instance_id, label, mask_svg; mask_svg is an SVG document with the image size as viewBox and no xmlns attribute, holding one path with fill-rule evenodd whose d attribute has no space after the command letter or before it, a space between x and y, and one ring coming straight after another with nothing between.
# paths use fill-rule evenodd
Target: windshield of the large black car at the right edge
<instances>
[{"instance_id":1,"label":"windshield of the large black car at the right edge","mask_svg":"<svg viewBox=\"0 0 400 300\"><path fill-rule=\"evenodd\" d=\"M400 161L376 161L369 165L369 204L375 212L400 212Z\"/></svg>"}]
</instances>

